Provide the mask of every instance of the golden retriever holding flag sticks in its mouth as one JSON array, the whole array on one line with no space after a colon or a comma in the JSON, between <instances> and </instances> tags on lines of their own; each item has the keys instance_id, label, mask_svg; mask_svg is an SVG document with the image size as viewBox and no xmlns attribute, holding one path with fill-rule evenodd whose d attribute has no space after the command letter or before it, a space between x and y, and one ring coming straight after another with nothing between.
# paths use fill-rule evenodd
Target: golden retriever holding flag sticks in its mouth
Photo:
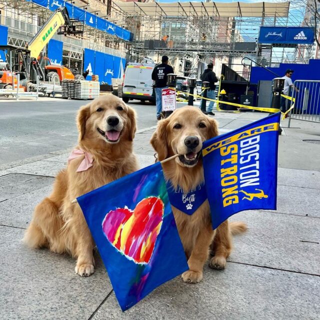
<instances>
[{"instance_id":1,"label":"golden retriever holding flag sticks in its mouth","mask_svg":"<svg viewBox=\"0 0 320 320\"><path fill-rule=\"evenodd\" d=\"M165 178L174 188L180 187L187 193L204 181L202 142L217 134L217 122L194 106L179 108L158 122L150 140L157 152L158 160L180 154L162 164ZM212 230L207 200L192 215L185 214L174 206L172 210L188 258L189 270L182 273L183 281L190 283L201 281L210 245L214 256L209 266L216 269L224 268L226 258L231 251L231 234L244 231L246 225L242 222L228 223L226 220L216 230Z\"/></svg>"}]
</instances>

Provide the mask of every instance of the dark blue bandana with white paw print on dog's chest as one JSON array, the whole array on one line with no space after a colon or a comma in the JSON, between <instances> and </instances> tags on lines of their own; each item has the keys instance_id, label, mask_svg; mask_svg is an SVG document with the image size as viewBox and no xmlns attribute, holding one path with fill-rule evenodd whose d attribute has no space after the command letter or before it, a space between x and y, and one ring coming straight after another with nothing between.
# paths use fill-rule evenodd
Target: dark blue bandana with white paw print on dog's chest
<instances>
[{"instance_id":1,"label":"dark blue bandana with white paw print on dog's chest","mask_svg":"<svg viewBox=\"0 0 320 320\"><path fill-rule=\"evenodd\" d=\"M189 215L193 214L207 198L204 182L188 193L183 193L179 186L174 189L169 181L166 181L166 189L171 205Z\"/></svg>"}]
</instances>

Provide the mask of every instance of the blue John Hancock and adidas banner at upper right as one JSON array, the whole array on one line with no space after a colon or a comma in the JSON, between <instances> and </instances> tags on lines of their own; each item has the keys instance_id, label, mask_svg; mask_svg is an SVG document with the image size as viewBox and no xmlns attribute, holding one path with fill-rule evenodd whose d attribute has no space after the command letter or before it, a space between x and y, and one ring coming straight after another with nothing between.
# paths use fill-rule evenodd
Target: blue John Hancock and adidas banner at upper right
<instances>
[{"instance_id":1,"label":"blue John Hancock and adidas banner at upper right","mask_svg":"<svg viewBox=\"0 0 320 320\"><path fill-rule=\"evenodd\" d=\"M259 43L313 44L312 27L260 26Z\"/></svg>"}]
</instances>

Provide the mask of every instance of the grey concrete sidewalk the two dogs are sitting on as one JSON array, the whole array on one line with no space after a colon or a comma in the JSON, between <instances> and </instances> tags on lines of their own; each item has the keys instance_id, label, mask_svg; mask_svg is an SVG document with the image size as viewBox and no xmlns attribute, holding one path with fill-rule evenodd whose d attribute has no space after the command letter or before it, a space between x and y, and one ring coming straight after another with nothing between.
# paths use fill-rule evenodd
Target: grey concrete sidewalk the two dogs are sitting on
<instances>
[{"instance_id":1,"label":"grey concrete sidewalk the two dogs are sitting on","mask_svg":"<svg viewBox=\"0 0 320 320\"><path fill-rule=\"evenodd\" d=\"M265 116L216 113L220 132ZM291 121L279 137L278 209L248 211L248 231L234 238L225 270L206 265L203 281L177 277L121 312L96 254L95 273L74 274L75 261L21 243L34 206L52 188L69 150L0 167L0 319L320 319L320 124ZM154 162L139 131L134 150L141 167Z\"/></svg>"}]
</instances>

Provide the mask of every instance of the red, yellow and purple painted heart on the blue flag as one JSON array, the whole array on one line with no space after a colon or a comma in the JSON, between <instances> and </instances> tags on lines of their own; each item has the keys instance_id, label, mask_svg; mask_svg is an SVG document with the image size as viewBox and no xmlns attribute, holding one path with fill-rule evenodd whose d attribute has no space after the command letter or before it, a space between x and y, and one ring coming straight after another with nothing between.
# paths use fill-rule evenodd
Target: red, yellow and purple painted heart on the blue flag
<instances>
[{"instance_id":1,"label":"red, yellow and purple painted heart on the blue flag","mask_svg":"<svg viewBox=\"0 0 320 320\"><path fill-rule=\"evenodd\" d=\"M136 263L148 263L160 232L164 204L155 196L141 200L134 210L126 206L109 211L102 229L109 242Z\"/></svg>"}]
</instances>

